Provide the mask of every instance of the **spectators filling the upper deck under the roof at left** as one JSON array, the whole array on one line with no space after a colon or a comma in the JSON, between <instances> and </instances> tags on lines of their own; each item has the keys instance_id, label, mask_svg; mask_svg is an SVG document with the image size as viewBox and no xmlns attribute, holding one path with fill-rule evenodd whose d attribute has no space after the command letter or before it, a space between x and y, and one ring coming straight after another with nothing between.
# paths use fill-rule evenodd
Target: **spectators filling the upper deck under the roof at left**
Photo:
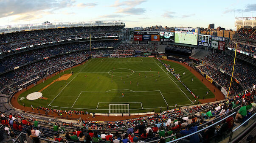
<instances>
[{"instance_id":1,"label":"spectators filling the upper deck under the roof at left","mask_svg":"<svg viewBox=\"0 0 256 143\"><path fill-rule=\"evenodd\" d=\"M88 38L90 37L90 33L91 37L93 38L104 36L119 36L119 32L121 32L122 28L122 26L73 27L1 34L0 51L7 51L53 41L74 38Z\"/></svg>"}]
</instances>

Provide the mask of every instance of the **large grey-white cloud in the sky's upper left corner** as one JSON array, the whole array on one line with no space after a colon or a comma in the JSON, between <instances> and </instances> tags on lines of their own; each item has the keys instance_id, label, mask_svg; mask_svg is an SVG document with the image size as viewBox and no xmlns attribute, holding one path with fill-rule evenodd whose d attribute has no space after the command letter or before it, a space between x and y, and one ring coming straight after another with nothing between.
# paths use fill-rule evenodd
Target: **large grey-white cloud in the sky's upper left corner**
<instances>
[{"instance_id":1,"label":"large grey-white cloud in the sky's upper left corner","mask_svg":"<svg viewBox=\"0 0 256 143\"><path fill-rule=\"evenodd\" d=\"M31 13L56 11L72 7L73 3L73 0L0 0L0 18L14 15L21 15L20 19L28 18L33 15Z\"/></svg>"}]
</instances>

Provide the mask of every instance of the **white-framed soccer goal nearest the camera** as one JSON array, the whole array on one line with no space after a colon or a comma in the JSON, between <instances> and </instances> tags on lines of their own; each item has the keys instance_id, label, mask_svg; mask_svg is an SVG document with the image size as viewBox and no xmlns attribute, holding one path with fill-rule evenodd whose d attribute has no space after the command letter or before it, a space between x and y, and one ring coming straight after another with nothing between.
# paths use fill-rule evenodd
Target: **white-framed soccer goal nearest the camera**
<instances>
[{"instance_id":1,"label":"white-framed soccer goal nearest the camera","mask_svg":"<svg viewBox=\"0 0 256 143\"><path fill-rule=\"evenodd\" d=\"M109 104L109 113L129 113L129 104Z\"/></svg>"}]
</instances>

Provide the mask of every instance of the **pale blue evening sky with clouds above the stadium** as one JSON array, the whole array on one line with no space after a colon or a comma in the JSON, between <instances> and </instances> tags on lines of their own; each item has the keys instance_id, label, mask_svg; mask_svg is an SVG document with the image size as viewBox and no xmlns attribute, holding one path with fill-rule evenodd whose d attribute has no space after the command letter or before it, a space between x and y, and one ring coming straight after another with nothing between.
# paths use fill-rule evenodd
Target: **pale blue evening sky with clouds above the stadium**
<instances>
[{"instance_id":1,"label":"pale blue evening sky with clouds above the stadium","mask_svg":"<svg viewBox=\"0 0 256 143\"><path fill-rule=\"evenodd\" d=\"M126 27L216 27L256 16L255 0L0 0L0 26L121 20Z\"/></svg>"}]
</instances>

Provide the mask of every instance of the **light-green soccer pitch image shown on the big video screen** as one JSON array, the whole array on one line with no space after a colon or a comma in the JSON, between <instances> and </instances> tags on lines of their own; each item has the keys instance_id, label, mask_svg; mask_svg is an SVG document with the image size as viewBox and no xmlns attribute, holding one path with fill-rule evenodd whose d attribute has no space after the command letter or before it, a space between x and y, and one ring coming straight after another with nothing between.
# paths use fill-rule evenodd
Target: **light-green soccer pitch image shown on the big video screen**
<instances>
[{"instance_id":1,"label":"light-green soccer pitch image shown on the big video screen","mask_svg":"<svg viewBox=\"0 0 256 143\"><path fill-rule=\"evenodd\" d=\"M175 33L175 43L197 45L197 34Z\"/></svg>"}]
</instances>

